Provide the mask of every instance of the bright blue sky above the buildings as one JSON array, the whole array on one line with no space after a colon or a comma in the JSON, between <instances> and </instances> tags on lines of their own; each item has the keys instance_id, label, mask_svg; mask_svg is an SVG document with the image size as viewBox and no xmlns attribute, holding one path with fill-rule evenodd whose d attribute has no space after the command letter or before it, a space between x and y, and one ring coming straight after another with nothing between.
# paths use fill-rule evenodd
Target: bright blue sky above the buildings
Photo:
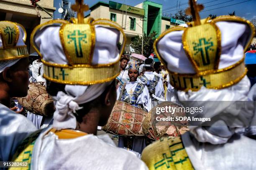
<instances>
[{"instance_id":1,"label":"bright blue sky above the buildings","mask_svg":"<svg viewBox=\"0 0 256 170\"><path fill-rule=\"evenodd\" d=\"M58 1L58 0L54 0ZM109 0L101 0L103 2L109 2ZM123 3L131 6L135 6L144 0L113 0L115 2ZM174 14L176 13L177 0L150 0L151 2L156 2L163 5L163 13ZM246 2L247 1L247 2ZM75 0L69 0L69 2L74 3ZM98 0L84 0L90 7L98 2ZM178 0L178 4L181 4L180 8L186 8L188 6L188 0ZM243 3L240 3L243 2ZM198 0L198 3L202 3L205 9L200 12L201 18L206 18L209 14L212 15L228 15L228 13L236 12L237 16L251 20L256 19L256 0ZM221 3L221 4L220 4ZM237 5L233 5L239 3ZM228 6L231 5L231 6ZM228 6L228 7L224 7ZM58 5L59 7L59 5ZM223 7L223 8L221 8ZM219 8L219 9L215 9ZM212 10L214 9L214 10ZM207 11L206 11L207 10ZM89 12L87 12L89 13ZM86 14L87 14L86 13Z\"/></svg>"}]
</instances>

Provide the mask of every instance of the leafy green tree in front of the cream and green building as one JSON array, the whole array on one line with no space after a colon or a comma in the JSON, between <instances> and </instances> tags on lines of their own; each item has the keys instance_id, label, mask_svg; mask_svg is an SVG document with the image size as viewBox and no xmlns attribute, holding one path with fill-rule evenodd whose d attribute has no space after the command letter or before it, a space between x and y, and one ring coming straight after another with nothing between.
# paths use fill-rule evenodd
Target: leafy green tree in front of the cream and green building
<instances>
[{"instance_id":1,"label":"leafy green tree in front of the cream and green building","mask_svg":"<svg viewBox=\"0 0 256 170\"><path fill-rule=\"evenodd\" d=\"M153 31L150 35L144 34L143 36L143 55L148 57L151 53L154 52L153 45L156 40L156 32ZM142 47L142 37L137 36L131 41L131 47L135 50L137 54L141 54Z\"/></svg>"}]
</instances>

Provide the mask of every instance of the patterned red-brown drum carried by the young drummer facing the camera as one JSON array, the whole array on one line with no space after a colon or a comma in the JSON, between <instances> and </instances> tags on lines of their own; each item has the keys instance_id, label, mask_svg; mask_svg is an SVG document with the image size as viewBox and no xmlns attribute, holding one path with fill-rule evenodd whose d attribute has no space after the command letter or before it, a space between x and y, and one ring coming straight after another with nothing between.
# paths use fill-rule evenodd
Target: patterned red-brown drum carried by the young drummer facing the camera
<instances>
[{"instance_id":1,"label":"patterned red-brown drum carried by the young drummer facing the camera","mask_svg":"<svg viewBox=\"0 0 256 170\"><path fill-rule=\"evenodd\" d=\"M102 130L114 135L143 136L142 122L147 114L142 109L117 100Z\"/></svg>"}]
</instances>

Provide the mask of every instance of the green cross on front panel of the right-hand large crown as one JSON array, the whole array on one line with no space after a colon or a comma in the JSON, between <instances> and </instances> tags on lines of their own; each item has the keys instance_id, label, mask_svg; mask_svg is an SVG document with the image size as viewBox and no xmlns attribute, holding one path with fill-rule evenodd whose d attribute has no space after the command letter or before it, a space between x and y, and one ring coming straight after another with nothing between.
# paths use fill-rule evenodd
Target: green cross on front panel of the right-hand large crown
<instances>
[{"instance_id":1,"label":"green cross on front panel of the right-hand large crown","mask_svg":"<svg viewBox=\"0 0 256 170\"><path fill-rule=\"evenodd\" d=\"M208 41L205 38L200 38L199 43L193 42L194 45L194 55L197 55L197 53L201 53L202 62L203 65L209 65L210 64L210 58L208 51L213 49L211 48L213 46L213 42L210 41L212 38L210 38Z\"/></svg>"}]
</instances>

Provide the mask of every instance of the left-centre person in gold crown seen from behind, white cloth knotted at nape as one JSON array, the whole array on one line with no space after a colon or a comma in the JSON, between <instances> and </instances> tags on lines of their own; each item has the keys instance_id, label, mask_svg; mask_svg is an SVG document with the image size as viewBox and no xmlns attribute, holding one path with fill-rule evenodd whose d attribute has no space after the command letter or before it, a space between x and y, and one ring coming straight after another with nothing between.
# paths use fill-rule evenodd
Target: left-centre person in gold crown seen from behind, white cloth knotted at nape
<instances>
[{"instance_id":1,"label":"left-centre person in gold crown seen from behind, white cloth knotted at nape","mask_svg":"<svg viewBox=\"0 0 256 170\"><path fill-rule=\"evenodd\" d=\"M124 48L123 30L110 20L84 19L89 7L83 0L76 0L72 9L78 12L73 23L49 21L31 34L56 111L53 125L27 138L14 160L27 158L31 170L146 170L135 154L117 148L108 135L97 136L97 126L106 124L116 100L123 52L117 43L121 32Z\"/></svg>"}]
</instances>

